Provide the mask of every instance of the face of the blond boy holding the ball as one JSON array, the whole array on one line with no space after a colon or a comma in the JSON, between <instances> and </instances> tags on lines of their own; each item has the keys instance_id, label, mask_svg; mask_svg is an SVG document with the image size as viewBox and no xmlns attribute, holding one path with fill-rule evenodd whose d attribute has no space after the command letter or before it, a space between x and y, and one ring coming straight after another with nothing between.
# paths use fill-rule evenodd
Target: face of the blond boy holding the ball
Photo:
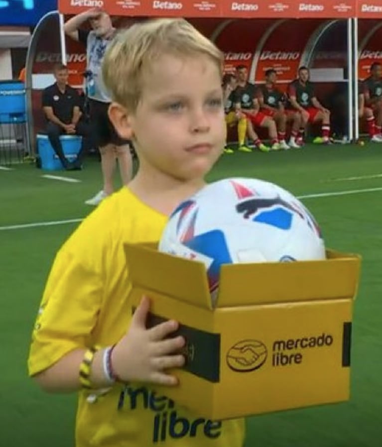
<instances>
[{"instance_id":1,"label":"face of the blond boy holding the ball","mask_svg":"<svg viewBox=\"0 0 382 447\"><path fill-rule=\"evenodd\" d=\"M143 75L128 117L141 168L178 180L210 171L225 144L221 76L208 57L163 55Z\"/></svg>"}]
</instances>

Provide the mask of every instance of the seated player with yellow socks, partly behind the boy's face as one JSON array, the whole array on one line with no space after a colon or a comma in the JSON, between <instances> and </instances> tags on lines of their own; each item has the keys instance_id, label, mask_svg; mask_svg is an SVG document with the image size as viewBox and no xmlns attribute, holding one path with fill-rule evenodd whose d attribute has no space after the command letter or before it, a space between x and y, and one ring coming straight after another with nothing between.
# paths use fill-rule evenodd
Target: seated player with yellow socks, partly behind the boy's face
<instances>
[{"instance_id":1,"label":"seated player with yellow socks, partly behind the boy's face","mask_svg":"<svg viewBox=\"0 0 382 447\"><path fill-rule=\"evenodd\" d=\"M226 123L228 127L238 126L239 150L242 152L252 152L252 149L245 144L246 135L254 140L255 146L262 152L268 152L269 148L265 146L258 138L252 123L244 114L237 113L234 108L234 92L237 87L236 77L227 73L223 77L223 95L225 104ZM234 151L226 145L224 148L226 154L232 154Z\"/></svg>"}]
</instances>

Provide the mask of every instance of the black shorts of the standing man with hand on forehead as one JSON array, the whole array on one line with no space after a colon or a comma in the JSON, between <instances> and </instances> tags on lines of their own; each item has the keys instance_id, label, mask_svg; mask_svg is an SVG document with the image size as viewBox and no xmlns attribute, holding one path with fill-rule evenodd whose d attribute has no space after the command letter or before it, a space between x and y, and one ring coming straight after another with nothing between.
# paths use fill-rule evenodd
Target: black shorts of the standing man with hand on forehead
<instances>
[{"instance_id":1,"label":"black shorts of the standing man with hand on forehead","mask_svg":"<svg viewBox=\"0 0 382 447\"><path fill-rule=\"evenodd\" d=\"M92 133L97 147L104 147L110 143L116 146L124 146L129 143L128 140L118 135L109 119L108 110L110 103L89 99L89 106Z\"/></svg>"}]
</instances>

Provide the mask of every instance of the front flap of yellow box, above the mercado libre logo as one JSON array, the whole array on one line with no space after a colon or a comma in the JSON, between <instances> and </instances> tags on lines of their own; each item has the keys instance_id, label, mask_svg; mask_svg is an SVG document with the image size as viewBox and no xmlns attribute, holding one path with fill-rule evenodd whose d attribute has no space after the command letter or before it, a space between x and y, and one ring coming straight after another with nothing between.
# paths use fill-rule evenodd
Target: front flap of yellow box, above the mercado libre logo
<instances>
[{"instance_id":1,"label":"front flap of yellow box, above the mercado libre logo","mask_svg":"<svg viewBox=\"0 0 382 447\"><path fill-rule=\"evenodd\" d=\"M328 251L324 261L224 265L217 307L352 298L361 259Z\"/></svg>"}]
</instances>

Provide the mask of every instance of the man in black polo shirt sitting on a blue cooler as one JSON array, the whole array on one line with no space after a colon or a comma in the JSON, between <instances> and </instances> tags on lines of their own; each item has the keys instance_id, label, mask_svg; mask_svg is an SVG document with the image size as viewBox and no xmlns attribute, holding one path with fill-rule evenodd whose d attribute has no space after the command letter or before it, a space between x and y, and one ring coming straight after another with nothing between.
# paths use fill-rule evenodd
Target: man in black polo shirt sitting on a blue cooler
<instances>
[{"instance_id":1,"label":"man in black polo shirt sitting on a blue cooler","mask_svg":"<svg viewBox=\"0 0 382 447\"><path fill-rule=\"evenodd\" d=\"M70 163L64 155L60 135L89 136L88 126L80 120L80 97L68 82L68 69L65 65L56 64L53 68L56 82L42 93L42 108L47 119L46 133L58 158L66 170L81 169L84 155L84 141L74 163Z\"/></svg>"}]
</instances>

